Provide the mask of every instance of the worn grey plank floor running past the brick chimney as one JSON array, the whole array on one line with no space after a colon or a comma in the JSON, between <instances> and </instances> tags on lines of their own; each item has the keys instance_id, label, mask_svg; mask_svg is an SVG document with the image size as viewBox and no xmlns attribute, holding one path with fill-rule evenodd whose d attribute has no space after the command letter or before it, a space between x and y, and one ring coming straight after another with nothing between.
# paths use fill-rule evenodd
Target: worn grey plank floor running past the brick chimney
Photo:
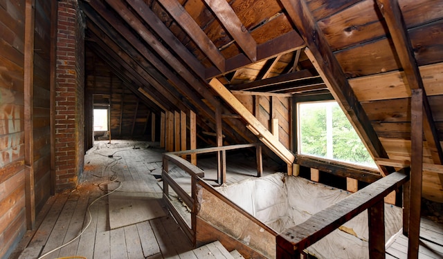
<instances>
[{"instance_id":1,"label":"worn grey plank floor running past the brick chimney","mask_svg":"<svg viewBox=\"0 0 443 259\"><path fill-rule=\"evenodd\" d=\"M116 188L116 182L111 182L116 179L127 184L138 182L132 188L134 193L143 192L152 198L162 197L162 189L155 175L161 172L163 150L153 148L149 142L113 140L111 143L96 142L87 152L78 188L48 199L37 215L37 229L26 233L11 259L39 258L53 249L56 250L44 258L195 258L190 256L192 244L163 203L161 206L167 216L112 230L109 228L108 197L91 205L107 193L108 188ZM217 168L216 157L205 156L198 161L198 165L207 169L209 177L213 178ZM186 177L178 167L170 168L173 178ZM275 170L275 167L264 166L264 175ZM227 173L228 182L253 177L255 156L250 165L245 162L236 165L228 160ZM57 249L78 236L85 227L87 229L80 238ZM195 253L192 252L192 255Z\"/></svg>"}]
</instances>

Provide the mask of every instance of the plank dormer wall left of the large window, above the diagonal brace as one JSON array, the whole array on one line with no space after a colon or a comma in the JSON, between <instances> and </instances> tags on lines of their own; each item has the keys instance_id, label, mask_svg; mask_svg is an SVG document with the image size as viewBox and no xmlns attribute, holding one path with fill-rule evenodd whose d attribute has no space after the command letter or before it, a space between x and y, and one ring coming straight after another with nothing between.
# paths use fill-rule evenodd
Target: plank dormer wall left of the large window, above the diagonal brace
<instances>
[{"instance_id":1,"label":"plank dormer wall left of the large window, above the diagonal brace","mask_svg":"<svg viewBox=\"0 0 443 259\"><path fill-rule=\"evenodd\" d=\"M235 97L250 111L262 124L272 131L273 119L278 119L278 139L291 150L291 99L287 95L264 95L244 92L235 92Z\"/></svg>"}]
</instances>

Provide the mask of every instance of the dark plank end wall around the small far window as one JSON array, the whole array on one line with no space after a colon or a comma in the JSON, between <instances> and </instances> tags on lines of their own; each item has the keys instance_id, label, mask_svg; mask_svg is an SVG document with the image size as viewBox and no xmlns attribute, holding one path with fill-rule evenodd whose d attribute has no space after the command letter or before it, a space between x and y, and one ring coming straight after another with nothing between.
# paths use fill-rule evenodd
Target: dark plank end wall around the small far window
<instances>
[{"instance_id":1,"label":"dark plank end wall around the small far window","mask_svg":"<svg viewBox=\"0 0 443 259\"><path fill-rule=\"evenodd\" d=\"M111 139L151 140L152 111L150 108L143 104L143 101L109 70L105 62L89 49L86 51L86 66L87 93L96 95L93 98L94 105L110 104ZM89 114L88 111L87 114ZM160 117L158 114L154 116L154 119L159 121ZM156 122L155 125L160 125L160 122ZM160 129L157 129L156 132L159 131ZM156 136L156 140L159 139L159 136Z\"/></svg>"}]
</instances>

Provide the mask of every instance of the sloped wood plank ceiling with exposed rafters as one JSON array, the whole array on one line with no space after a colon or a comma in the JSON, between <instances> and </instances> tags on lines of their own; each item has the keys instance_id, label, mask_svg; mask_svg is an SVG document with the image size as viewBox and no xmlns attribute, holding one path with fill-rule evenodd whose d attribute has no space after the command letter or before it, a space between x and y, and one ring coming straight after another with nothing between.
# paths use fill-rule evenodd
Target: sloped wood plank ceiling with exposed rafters
<instances>
[{"instance_id":1,"label":"sloped wood plank ceiling with exposed rafters","mask_svg":"<svg viewBox=\"0 0 443 259\"><path fill-rule=\"evenodd\" d=\"M423 89L424 163L443 162L443 1L85 0L83 8L87 44L123 81L157 109L196 111L208 131L216 107L233 113L208 87L214 77L229 90L330 92L389 173L410 161L411 90ZM228 142L256 141L239 119L225 117L224 128ZM424 180L441 196L441 167L429 171Z\"/></svg>"}]
</instances>

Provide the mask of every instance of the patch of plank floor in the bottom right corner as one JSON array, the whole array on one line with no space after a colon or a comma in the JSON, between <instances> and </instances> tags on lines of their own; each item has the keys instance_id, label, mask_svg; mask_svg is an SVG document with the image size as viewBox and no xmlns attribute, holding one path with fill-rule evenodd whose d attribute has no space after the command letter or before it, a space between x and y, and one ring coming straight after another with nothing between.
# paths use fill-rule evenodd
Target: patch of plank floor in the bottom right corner
<instances>
[{"instance_id":1,"label":"patch of plank floor in the bottom right corner","mask_svg":"<svg viewBox=\"0 0 443 259\"><path fill-rule=\"evenodd\" d=\"M408 238L399 233L386 248L386 258L408 258ZM443 259L443 226L426 218L420 222L420 259Z\"/></svg>"}]
</instances>

